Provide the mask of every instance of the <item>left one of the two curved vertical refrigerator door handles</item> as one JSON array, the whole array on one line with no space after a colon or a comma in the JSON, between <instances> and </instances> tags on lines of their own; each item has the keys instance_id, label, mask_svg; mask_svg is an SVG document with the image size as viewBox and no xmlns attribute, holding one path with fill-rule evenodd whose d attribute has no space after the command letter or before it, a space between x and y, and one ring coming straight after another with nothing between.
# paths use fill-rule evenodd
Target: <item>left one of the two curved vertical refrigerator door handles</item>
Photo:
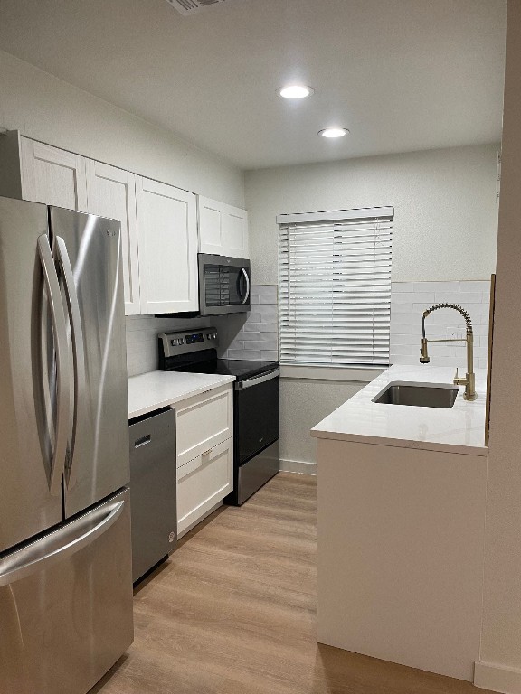
<instances>
[{"instance_id":1,"label":"left one of the two curved vertical refrigerator door handles","mask_svg":"<svg viewBox=\"0 0 521 694\"><path fill-rule=\"evenodd\" d=\"M49 490L53 496L62 493L62 474L67 458L71 383L68 368L67 328L63 314L62 294L52 258L51 245L46 234L38 237L38 254L42 263L43 279L51 306L52 330L56 352L56 436L52 455Z\"/></svg>"}]
</instances>

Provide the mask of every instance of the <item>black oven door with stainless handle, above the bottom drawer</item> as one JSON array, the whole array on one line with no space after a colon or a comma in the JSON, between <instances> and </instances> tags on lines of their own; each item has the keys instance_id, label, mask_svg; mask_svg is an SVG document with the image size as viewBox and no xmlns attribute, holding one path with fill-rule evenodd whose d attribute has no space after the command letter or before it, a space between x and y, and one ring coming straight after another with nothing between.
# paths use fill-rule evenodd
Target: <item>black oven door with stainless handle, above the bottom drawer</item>
<instances>
[{"instance_id":1,"label":"black oven door with stainless handle, above the bottom drawer","mask_svg":"<svg viewBox=\"0 0 521 694\"><path fill-rule=\"evenodd\" d=\"M247 463L279 438L279 373L276 369L235 384L235 464Z\"/></svg>"}]
</instances>

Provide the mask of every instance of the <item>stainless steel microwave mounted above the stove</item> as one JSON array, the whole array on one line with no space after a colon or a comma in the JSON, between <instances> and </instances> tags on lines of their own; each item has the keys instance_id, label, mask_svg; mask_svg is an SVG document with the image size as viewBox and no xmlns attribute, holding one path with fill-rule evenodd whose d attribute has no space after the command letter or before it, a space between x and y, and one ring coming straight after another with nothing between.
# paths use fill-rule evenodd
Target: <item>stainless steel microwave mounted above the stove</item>
<instances>
[{"instance_id":1,"label":"stainless steel microwave mounted above the stove","mask_svg":"<svg viewBox=\"0 0 521 694\"><path fill-rule=\"evenodd\" d=\"M250 260L199 254L201 315L251 311Z\"/></svg>"}]
</instances>

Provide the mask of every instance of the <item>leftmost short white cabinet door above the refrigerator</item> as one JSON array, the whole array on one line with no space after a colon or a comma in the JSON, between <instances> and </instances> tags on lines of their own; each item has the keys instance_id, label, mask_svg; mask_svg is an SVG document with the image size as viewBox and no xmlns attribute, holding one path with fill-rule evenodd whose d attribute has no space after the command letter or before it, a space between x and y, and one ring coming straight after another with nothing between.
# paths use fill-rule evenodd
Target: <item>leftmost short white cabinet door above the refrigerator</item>
<instances>
[{"instance_id":1,"label":"leftmost short white cabinet door above the refrigerator","mask_svg":"<svg viewBox=\"0 0 521 694\"><path fill-rule=\"evenodd\" d=\"M21 138L24 200L87 211L85 159L64 149Z\"/></svg>"}]
</instances>

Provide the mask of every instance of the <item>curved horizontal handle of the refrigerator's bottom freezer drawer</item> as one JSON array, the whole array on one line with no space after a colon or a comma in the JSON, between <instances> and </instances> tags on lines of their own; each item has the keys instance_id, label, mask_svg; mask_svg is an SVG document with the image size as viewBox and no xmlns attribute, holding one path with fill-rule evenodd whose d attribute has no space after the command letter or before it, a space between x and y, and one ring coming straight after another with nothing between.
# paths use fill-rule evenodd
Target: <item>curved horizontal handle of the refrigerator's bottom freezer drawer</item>
<instances>
[{"instance_id":1,"label":"curved horizontal handle of the refrigerator's bottom freezer drawer","mask_svg":"<svg viewBox=\"0 0 521 694\"><path fill-rule=\"evenodd\" d=\"M8 586L9 584L19 581L22 578L26 578L35 574L37 571L43 571L56 564L59 561L71 557L76 552L90 545L95 539L99 538L106 530L109 530L110 526L114 525L118 521L121 512L123 511L123 506L125 502L118 502L115 506L110 509L108 515L95 525L94 528L90 528L79 538L73 539L58 549L53 549L49 554L42 555L42 543L49 542L50 539L55 540L61 533L66 533L70 530L69 527L65 526L61 530L56 530L51 533L50 536L43 538L39 541L34 542L33 545L22 549L19 554L21 557L16 561L16 554L14 553L14 560L11 557L6 557L3 561L0 561L0 587ZM105 510L106 511L106 510ZM85 517L89 519L89 514ZM81 521L81 519L80 519ZM76 521L76 522L80 522ZM90 520L88 521L90 525Z\"/></svg>"}]
</instances>

